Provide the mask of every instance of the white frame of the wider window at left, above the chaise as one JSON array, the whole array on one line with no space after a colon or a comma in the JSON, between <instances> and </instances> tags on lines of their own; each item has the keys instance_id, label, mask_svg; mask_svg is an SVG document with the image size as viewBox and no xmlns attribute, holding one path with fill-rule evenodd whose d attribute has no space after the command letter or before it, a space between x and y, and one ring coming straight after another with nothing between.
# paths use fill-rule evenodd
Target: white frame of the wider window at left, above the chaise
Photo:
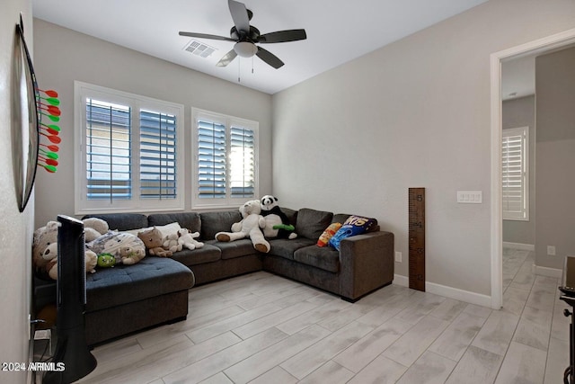
<instances>
[{"instance_id":1,"label":"white frame of the wider window at left, above the chaise","mask_svg":"<svg viewBox=\"0 0 575 384\"><path fill-rule=\"evenodd\" d=\"M105 212L168 211L185 209L185 145L184 106L165 102L151 97L130 94L123 91L75 81L74 83L74 174L75 174L75 214ZM87 199L86 167L86 100L97 99L105 103L118 103L130 107L130 158L132 196L130 199L110 201ZM161 199L140 196L140 113L153 111L174 115L176 118L176 197Z\"/></svg>"}]
</instances>

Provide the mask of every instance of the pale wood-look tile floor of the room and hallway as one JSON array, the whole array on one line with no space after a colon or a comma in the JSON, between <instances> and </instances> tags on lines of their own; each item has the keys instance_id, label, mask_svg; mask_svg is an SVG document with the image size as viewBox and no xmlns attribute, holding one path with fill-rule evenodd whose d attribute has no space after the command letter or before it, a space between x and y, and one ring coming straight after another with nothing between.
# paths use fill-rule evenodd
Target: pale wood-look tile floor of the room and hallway
<instances>
[{"instance_id":1,"label":"pale wood-look tile floor of the room and hallway","mask_svg":"<svg viewBox=\"0 0 575 384\"><path fill-rule=\"evenodd\" d=\"M81 382L561 383L568 306L533 262L504 250L501 310L394 284L350 304L267 272L195 287L186 321L95 348Z\"/></svg>"}]
</instances>

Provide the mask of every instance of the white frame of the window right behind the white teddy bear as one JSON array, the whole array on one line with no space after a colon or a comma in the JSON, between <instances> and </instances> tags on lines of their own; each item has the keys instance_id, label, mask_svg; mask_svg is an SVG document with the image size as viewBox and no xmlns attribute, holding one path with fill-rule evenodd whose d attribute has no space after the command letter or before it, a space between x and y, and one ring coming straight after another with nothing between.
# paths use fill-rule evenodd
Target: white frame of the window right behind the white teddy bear
<instances>
[{"instance_id":1,"label":"white frame of the window right behind the white teddy bear","mask_svg":"<svg viewBox=\"0 0 575 384\"><path fill-rule=\"evenodd\" d=\"M211 121L226 128L226 197L225 198L199 198L199 154L198 154L198 121ZM258 199L259 192L259 142L260 123L224 113L211 112L199 108L191 108L191 209L224 209L236 208L247 200ZM231 128L251 129L253 131L253 197L233 198L230 196L230 148Z\"/></svg>"}]
</instances>

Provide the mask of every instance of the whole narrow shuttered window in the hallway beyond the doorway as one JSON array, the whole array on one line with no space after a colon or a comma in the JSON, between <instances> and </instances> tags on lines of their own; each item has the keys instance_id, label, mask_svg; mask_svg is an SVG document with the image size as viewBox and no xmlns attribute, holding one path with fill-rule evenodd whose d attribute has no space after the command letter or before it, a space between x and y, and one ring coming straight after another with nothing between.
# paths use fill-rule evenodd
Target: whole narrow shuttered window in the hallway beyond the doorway
<instances>
[{"instance_id":1,"label":"whole narrow shuttered window in the hallway beyond the doorway","mask_svg":"<svg viewBox=\"0 0 575 384\"><path fill-rule=\"evenodd\" d=\"M503 129L501 143L503 219L529 219L528 132L528 127Z\"/></svg>"}]
</instances>

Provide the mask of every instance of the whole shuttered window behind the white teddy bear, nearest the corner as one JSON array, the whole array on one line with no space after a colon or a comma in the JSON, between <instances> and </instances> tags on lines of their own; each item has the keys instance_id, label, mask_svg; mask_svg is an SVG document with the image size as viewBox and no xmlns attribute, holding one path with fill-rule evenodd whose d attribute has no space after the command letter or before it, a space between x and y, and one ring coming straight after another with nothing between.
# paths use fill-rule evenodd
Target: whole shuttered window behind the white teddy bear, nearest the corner
<instances>
[{"instance_id":1,"label":"whole shuttered window behind the white teddy bear, nearest the corner","mask_svg":"<svg viewBox=\"0 0 575 384\"><path fill-rule=\"evenodd\" d=\"M235 207L257 198L258 123L192 110L192 208Z\"/></svg>"}]
</instances>

